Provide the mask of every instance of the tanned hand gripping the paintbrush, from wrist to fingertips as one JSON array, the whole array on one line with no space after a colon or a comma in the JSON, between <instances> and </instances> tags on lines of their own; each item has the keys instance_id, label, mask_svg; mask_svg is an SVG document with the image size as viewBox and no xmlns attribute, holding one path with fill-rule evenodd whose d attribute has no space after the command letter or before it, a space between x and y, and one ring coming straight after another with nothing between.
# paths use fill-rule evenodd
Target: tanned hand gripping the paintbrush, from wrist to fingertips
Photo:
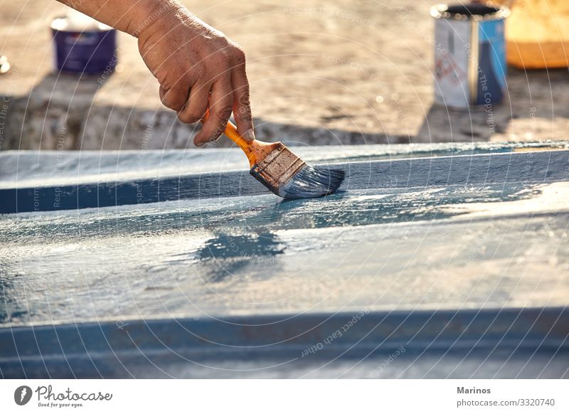
<instances>
[{"instance_id":1,"label":"tanned hand gripping the paintbrush, from wrist to fingertips","mask_svg":"<svg viewBox=\"0 0 569 414\"><path fill-rule=\"evenodd\" d=\"M198 122L209 109L193 143L201 147L218 139L231 112L239 134L255 139L245 53L237 43L175 1L161 3L148 16L134 34L144 63L160 83L162 102L186 123Z\"/></svg>"}]
</instances>

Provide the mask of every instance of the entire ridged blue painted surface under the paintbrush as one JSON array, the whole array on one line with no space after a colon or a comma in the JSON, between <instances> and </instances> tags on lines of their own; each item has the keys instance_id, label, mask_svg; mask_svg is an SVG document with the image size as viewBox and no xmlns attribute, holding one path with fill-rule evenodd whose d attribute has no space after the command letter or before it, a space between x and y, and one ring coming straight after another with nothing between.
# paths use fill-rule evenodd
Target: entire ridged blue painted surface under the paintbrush
<instances>
[{"instance_id":1,"label":"entire ridged blue painted surface under the paintbrush","mask_svg":"<svg viewBox=\"0 0 569 414\"><path fill-rule=\"evenodd\" d=\"M569 152L512 149L303 149L349 179L287 202L231 172L238 152L196 153L181 176L193 154L149 152L159 179L129 175L134 154L66 153L41 206L93 181L121 205L0 216L0 375L565 378ZM0 154L3 208L56 155ZM127 205L134 182L149 198Z\"/></svg>"}]
</instances>

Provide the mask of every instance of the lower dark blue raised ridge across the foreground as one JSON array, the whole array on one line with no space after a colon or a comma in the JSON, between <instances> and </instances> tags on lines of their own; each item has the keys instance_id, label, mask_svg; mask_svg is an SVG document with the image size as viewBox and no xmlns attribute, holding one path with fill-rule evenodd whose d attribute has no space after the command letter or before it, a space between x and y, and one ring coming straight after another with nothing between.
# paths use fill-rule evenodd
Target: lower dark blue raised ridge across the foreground
<instances>
[{"instance_id":1,"label":"lower dark blue raised ridge across the foreground","mask_svg":"<svg viewBox=\"0 0 569 414\"><path fill-rule=\"evenodd\" d=\"M404 346L413 351L519 349L558 354L569 352L569 309L482 309L417 312L371 312L348 327L354 314L274 315L216 319L160 319L102 324L65 324L0 329L0 371L7 375L51 361L83 361L87 376L97 376L90 356L144 359L145 354L209 355L223 359L272 356L286 361L319 343L314 357L365 354ZM336 331L341 336L325 344ZM115 356L116 355L116 356Z\"/></svg>"}]
</instances>

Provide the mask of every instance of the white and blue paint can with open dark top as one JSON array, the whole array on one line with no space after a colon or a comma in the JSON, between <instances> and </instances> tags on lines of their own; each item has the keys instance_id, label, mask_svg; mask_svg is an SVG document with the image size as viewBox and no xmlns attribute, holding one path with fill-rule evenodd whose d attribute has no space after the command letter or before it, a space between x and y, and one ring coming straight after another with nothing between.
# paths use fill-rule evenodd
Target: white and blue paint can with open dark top
<instances>
[{"instance_id":1,"label":"white and blue paint can with open dark top","mask_svg":"<svg viewBox=\"0 0 569 414\"><path fill-rule=\"evenodd\" d=\"M506 93L506 6L437 4L435 102L447 107L491 105Z\"/></svg>"}]
</instances>

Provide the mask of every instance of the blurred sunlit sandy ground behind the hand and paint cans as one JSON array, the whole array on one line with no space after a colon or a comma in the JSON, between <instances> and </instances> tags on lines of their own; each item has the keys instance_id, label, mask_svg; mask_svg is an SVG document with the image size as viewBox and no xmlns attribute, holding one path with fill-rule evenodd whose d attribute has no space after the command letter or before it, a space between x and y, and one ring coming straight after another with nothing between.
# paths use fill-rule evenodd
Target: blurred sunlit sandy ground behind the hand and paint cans
<instances>
[{"instance_id":1,"label":"blurred sunlit sandy ground behind the hand and paint cans","mask_svg":"<svg viewBox=\"0 0 569 414\"><path fill-rule=\"evenodd\" d=\"M567 70L509 70L509 97L491 111L433 105L431 2L184 1L248 54L261 139L304 144L565 139ZM191 147L193 127L161 106L136 41L119 36L119 68L97 79L53 75L53 0L0 0L0 50L14 66L1 148ZM226 145L228 141L220 142Z\"/></svg>"}]
</instances>

